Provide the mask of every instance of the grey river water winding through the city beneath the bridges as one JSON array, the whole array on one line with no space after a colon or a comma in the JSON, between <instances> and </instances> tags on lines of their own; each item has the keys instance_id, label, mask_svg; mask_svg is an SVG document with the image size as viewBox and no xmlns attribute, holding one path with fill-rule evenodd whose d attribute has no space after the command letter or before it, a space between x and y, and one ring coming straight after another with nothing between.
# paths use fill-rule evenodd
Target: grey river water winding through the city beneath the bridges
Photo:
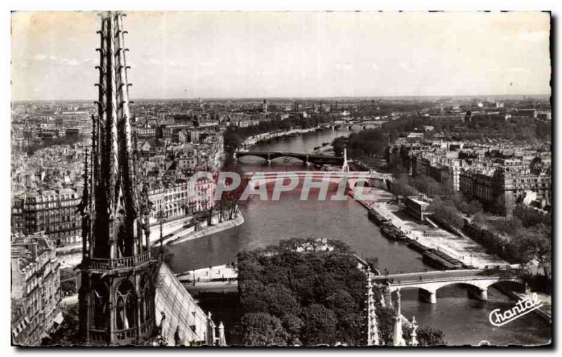
<instances>
[{"instance_id":1,"label":"grey river water winding through the city beneath the bridges","mask_svg":"<svg viewBox=\"0 0 562 357\"><path fill-rule=\"evenodd\" d=\"M294 138L282 138L260 143L255 150L312 152L322 143L350 131L318 131ZM298 160L274 160L269 167L257 158L244 157L239 163L244 171L303 170ZM336 186L330 190L336 191ZM311 196L313 197L313 196ZM275 245L292 237L325 237L346 242L360 257L376 257L379 268L391 273L433 270L421 261L421 255L402 243L384 238L377 226L367 219L367 210L358 202L301 201L298 191L282 193L277 202L249 200L241 208L245 223L228 231L169 246L171 268L177 273L194 268L216 266L235 261L244 250ZM420 302L417 290L403 292L402 312L419 325L431 325L445 332L450 345L478 344L545 344L550 339L547 322L533 313L502 327L488 321L495 309L505 311L514 301L498 290L488 290L488 301L468 299L466 290L457 285L443 287L437 292L437 304Z\"/></svg>"}]
</instances>

